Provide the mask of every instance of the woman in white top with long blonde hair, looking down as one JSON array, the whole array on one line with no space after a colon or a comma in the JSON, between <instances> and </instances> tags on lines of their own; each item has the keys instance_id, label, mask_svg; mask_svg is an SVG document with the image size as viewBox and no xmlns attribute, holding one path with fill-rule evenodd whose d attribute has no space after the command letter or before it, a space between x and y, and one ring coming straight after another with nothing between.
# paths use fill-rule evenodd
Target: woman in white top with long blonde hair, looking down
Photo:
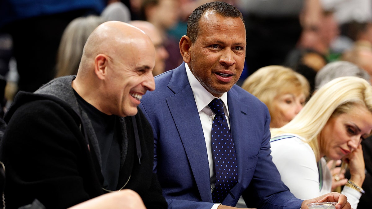
<instances>
[{"instance_id":1,"label":"woman in white top with long blonde hair, looking down","mask_svg":"<svg viewBox=\"0 0 372 209\"><path fill-rule=\"evenodd\" d=\"M318 89L291 122L271 129L273 162L291 192L308 199L331 191L323 157L342 158L351 174L342 193L356 209L365 179L360 142L371 130L370 84L358 77L336 78Z\"/></svg>"}]
</instances>

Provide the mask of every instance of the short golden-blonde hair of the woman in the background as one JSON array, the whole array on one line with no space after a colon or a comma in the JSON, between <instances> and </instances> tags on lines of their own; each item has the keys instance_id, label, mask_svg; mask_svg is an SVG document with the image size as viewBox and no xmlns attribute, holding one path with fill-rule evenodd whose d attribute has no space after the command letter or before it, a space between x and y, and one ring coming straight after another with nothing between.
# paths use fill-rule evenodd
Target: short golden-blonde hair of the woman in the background
<instances>
[{"instance_id":1,"label":"short golden-blonde hair of the woman in the background","mask_svg":"<svg viewBox=\"0 0 372 209\"><path fill-rule=\"evenodd\" d=\"M283 93L299 91L309 97L310 84L307 79L294 70L281 65L269 65L258 69L244 81L244 90L256 96L269 109L273 117L273 99Z\"/></svg>"}]
</instances>

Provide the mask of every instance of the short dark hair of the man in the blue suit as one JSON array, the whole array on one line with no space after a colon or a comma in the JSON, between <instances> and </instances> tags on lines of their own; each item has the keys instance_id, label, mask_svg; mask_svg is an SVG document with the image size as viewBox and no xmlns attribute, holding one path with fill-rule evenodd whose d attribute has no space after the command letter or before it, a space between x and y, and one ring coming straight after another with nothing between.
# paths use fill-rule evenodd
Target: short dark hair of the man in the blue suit
<instances>
[{"instance_id":1,"label":"short dark hair of the man in the blue suit","mask_svg":"<svg viewBox=\"0 0 372 209\"><path fill-rule=\"evenodd\" d=\"M199 21L206 11L214 11L217 14L224 17L240 17L243 21L243 14L238 8L222 1L213 1L205 3L196 8L187 20L187 32L186 35L190 38L192 43L195 43L196 38L199 35Z\"/></svg>"}]
</instances>

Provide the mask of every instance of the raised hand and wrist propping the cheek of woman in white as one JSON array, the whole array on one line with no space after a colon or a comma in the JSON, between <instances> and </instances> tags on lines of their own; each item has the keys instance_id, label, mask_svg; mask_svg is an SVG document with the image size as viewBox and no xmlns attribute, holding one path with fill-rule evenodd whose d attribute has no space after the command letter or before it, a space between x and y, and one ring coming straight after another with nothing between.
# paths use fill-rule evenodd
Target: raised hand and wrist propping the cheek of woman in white
<instances>
[{"instance_id":1,"label":"raised hand and wrist propping the cheek of woman in white","mask_svg":"<svg viewBox=\"0 0 372 209\"><path fill-rule=\"evenodd\" d=\"M346 155L343 160L349 161L350 180L362 186L366 177L362 145L359 144L358 148Z\"/></svg>"}]
</instances>

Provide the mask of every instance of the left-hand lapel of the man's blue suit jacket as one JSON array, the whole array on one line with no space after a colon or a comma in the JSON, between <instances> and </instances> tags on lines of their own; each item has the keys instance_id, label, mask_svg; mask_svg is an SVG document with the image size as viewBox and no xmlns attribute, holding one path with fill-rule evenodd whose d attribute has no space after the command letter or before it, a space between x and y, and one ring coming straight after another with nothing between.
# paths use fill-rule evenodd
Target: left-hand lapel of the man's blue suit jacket
<instances>
[{"instance_id":1,"label":"left-hand lapel of the man's blue suit jacket","mask_svg":"<svg viewBox=\"0 0 372 209\"><path fill-rule=\"evenodd\" d=\"M203 129L185 65L174 70L168 87L175 93L166 99L198 187L201 200L212 201L209 163ZM181 85L180 85L181 84Z\"/></svg>"}]
</instances>

